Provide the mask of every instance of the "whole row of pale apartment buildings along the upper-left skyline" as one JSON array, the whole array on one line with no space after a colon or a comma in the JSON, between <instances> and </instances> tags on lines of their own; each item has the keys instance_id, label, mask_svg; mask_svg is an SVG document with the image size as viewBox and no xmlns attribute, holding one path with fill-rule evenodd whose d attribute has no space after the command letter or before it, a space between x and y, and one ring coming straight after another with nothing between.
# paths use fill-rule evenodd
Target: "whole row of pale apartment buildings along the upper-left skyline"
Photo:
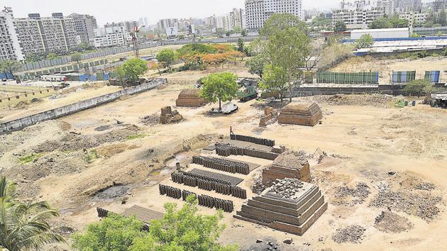
<instances>
[{"instance_id":1,"label":"whole row of pale apartment buildings along the upper-left skyline","mask_svg":"<svg viewBox=\"0 0 447 251\"><path fill-rule=\"evenodd\" d=\"M46 17L31 13L16 18L12 9L5 7L0 12L0 60L21 61L30 55L71 51L80 43L96 48L125 45L136 26L136 21L125 21L98 28L94 16L78 13Z\"/></svg>"}]
</instances>

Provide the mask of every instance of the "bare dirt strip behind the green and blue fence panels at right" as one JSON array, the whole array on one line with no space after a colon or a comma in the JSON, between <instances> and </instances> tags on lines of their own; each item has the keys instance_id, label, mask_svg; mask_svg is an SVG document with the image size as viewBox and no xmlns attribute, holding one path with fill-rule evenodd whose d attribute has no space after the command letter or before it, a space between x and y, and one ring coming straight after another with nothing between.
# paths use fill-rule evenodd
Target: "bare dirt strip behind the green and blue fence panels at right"
<instances>
[{"instance_id":1,"label":"bare dirt strip behind the green and blue fence panels at right","mask_svg":"<svg viewBox=\"0 0 447 251\"><path fill-rule=\"evenodd\" d=\"M425 71L441 70L441 79L446 79L445 57L425 57L418 60L351 57L333 67L329 72L379 72L379 83L390 84L392 71L416 71L416 79L423 79Z\"/></svg>"}]
</instances>

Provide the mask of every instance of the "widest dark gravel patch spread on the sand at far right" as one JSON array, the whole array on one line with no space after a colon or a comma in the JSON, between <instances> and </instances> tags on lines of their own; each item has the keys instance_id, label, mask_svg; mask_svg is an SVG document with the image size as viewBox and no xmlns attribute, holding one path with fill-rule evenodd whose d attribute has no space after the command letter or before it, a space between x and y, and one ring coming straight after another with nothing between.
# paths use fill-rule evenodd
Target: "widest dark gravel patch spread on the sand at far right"
<instances>
[{"instance_id":1,"label":"widest dark gravel patch spread on the sand at far right","mask_svg":"<svg viewBox=\"0 0 447 251\"><path fill-rule=\"evenodd\" d=\"M370 202L376 208L391 208L412 216L418 216L424 221L431 221L438 216L440 209L436 206L441 197L419 195L408 192L387 191L379 193Z\"/></svg>"}]
</instances>

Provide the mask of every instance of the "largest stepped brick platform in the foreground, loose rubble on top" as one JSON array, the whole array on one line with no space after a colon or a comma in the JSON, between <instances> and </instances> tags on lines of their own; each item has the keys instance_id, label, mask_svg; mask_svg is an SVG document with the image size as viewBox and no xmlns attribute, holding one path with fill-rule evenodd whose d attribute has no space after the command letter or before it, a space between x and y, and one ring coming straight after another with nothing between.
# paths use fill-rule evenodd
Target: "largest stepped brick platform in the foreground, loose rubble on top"
<instances>
[{"instance_id":1,"label":"largest stepped brick platform in the foreground, loose rubble on top","mask_svg":"<svg viewBox=\"0 0 447 251\"><path fill-rule=\"evenodd\" d=\"M328 203L319 187L299 179L275 182L260 196L242 205L235 218L303 235L326 211Z\"/></svg>"}]
</instances>

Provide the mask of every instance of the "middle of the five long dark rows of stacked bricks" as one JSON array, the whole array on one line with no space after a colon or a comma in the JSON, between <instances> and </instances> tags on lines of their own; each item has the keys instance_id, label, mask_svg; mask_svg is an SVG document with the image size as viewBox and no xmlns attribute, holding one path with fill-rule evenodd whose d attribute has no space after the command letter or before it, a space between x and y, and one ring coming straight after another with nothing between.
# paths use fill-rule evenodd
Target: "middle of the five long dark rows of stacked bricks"
<instances>
[{"instance_id":1,"label":"middle of the five long dark rows of stacked bricks","mask_svg":"<svg viewBox=\"0 0 447 251\"><path fill-rule=\"evenodd\" d=\"M250 173L250 167L248 164L231 160L223 160L215 157L194 156L192 157L192 162L194 164L202 164L204 167L209 167L211 169L216 169L223 172L231 172L233 174Z\"/></svg>"}]
</instances>

